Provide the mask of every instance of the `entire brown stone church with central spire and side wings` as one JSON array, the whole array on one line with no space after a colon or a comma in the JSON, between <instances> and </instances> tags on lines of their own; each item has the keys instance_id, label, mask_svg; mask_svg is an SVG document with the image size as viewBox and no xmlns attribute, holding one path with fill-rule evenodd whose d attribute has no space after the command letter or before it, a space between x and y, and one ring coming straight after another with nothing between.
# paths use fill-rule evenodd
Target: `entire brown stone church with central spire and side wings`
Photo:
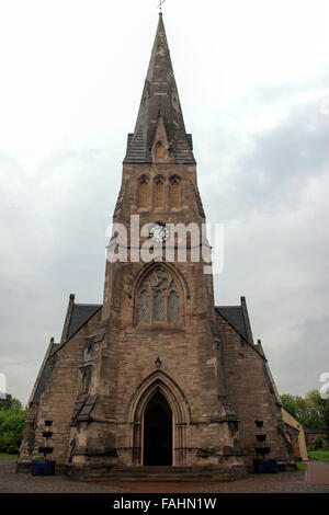
<instances>
[{"instance_id":1,"label":"entire brown stone church with central spire and side wings","mask_svg":"<svg viewBox=\"0 0 329 515\"><path fill-rule=\"evenodd\" d=\"M114 209L128 234L132 215L154 227L140 241L158 248L170 225L205 224L161 13ZM291 461L246 299L214 305L212 274L202 259L189 260L191 238L183 262L133 260L131 241L126 261L106 260L102 305L69 298L60 342L50 340L31 393L18 471L41 456L45 421L48 459L76 478L234 479L258 457L256 421L268 457ZM113 234L109 247L115 242Z\"/></svg>"}]
</instances>

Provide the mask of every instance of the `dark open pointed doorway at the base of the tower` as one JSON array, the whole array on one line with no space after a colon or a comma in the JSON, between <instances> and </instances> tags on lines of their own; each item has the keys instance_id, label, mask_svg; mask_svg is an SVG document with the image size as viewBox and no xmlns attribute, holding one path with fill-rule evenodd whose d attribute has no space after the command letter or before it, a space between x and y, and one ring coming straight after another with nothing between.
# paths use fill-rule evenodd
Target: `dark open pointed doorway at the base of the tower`
<instances>
[{"instance_id":1,"label":"dark open pointed doorway at the base of the tower","mask_svg":"<svg viewBox=\"0 0 329 515\"><path fill-rule=\"evenodd\" d=\"M172 411L160 391L144 413L144 466L172 466Z\"/></svg>"}]
</instances>

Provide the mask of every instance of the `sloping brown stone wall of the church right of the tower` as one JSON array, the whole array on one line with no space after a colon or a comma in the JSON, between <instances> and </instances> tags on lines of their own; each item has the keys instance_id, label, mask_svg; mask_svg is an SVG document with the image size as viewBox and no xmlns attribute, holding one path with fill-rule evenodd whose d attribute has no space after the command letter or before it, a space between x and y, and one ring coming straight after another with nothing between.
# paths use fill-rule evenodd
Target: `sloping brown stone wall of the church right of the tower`
<instances>
[{"instance_id":1,"label":"sloping brown stone wall of the church right of the tower","mask_svg":"<svg viewBox=\"0 0 329 515\"><path fill-rule=\"evenodd\" d=\"M256 435L266 434L271 447L270 458L290 460L285 428L271 380L266 373L266 360L256 345L248 344L230 325L217 314L218 331L224 346L224 367L227 397L240 420L239 437L249 470L257 458L254 448L260 447ZM263 421L257 428L254 421Z\"/></svg>"}]
</instances>

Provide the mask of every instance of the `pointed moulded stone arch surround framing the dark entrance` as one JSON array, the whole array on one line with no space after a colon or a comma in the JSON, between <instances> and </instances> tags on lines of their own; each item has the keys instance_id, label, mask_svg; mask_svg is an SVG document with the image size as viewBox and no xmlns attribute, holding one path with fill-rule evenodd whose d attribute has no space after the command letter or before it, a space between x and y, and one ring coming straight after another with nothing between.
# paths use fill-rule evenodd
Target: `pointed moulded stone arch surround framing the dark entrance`
<instances>
[{"instance_id":1,"label":"pointed moulded stone arch surround framing the dark entrance","mask_svg":"<svg viewBox=\"0 0 329 515\"><path fill-rule=\"evenodd\" d=\"M154 410L156 405L158 409ZM154 412L149 417L151 410ZM167 422L163 412L167 414ZM170 440L168 419L172 428L171 443L168 442ZM171 447L172 460L170 465L184 466L186 462L186 426L190 421L189 404L179 386L167 374L160 370L147 377L133 397L128 410L133 465L147 466L148 455L147 449L145 450L145 431L149 431L149 424L150 426L154 425L154 430L157 432L156 426L158 424L160 425L160 434L162 431L167 442L164 446L167 448L167 461L169 461L168 448ZM145 458L146 464L144 462Z\"/></svg>"}]
</instances>

